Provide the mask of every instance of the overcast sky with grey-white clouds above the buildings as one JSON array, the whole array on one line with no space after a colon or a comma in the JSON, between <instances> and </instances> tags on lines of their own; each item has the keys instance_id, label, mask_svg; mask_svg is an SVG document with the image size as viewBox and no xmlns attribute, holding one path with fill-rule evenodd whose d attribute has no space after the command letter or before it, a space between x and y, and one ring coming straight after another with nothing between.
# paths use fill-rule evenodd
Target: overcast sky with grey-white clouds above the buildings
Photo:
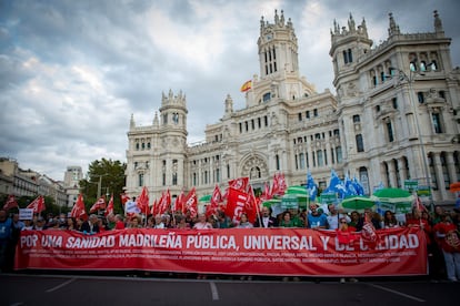
<instances>
[{"instance_id":1,"label":"overcast sky with grey-white clouds above the buildings","mask_svg":"<svg viewBox=\"0 0 460 306\"><path fill-rule=\"evenodd\" d=\"M437 9L460 65L457 0L0 0L0 156L54 180L68 165L126 162L131 114L150 125L170 89L187 95L189 143L203 140L227 94L243 108L260 18L273 22L276 9L292 19L301 74L318 92L334 92L330 29L350 12L379 44L389 12L401 32L428 32Z\"/></svg>"}]
</instances>

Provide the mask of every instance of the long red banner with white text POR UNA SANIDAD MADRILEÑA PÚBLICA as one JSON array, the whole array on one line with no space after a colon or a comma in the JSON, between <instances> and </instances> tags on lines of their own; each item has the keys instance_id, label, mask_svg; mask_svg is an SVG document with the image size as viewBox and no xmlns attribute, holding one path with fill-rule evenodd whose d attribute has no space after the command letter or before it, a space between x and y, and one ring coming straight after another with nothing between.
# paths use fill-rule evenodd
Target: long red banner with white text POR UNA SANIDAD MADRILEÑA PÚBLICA
<instances>
[{"instance_id":1,"label":"long red banner with white text POR UNA SANIDAD MADRILE\u00d1A P\u00daBLICA","mask_svg":"<svg viewBox=\"0 0 460 306\"><path fill-rule=\"evenodd\" d=\"M377 244L342 244L334 231L132 228L83 235L23 231L17 269L142 269L243 275L390 276L427 274L417 227L378 231Z\"/></svg>"}]
</instances>

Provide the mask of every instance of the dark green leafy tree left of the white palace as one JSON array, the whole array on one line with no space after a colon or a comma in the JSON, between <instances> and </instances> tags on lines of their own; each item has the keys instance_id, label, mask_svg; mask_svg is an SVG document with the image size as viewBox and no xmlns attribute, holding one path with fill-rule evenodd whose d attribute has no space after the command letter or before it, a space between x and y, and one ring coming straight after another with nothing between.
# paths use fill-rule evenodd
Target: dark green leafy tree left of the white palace
<instances>
[{"instance_id":1,"label":"dark green leafy tree left of the white palace","mask_svg":"<svg viewBox=\"0 0 460 306\"><path fill-rule=\"evenodd\" d=\"M113 194L114 212L122 212L120 194L126 185L126 163L102 159L93 161L88 166L87 178L80 181L80 192L83 194L87 212L96 203L98 196L107 195L107 203Z\"/></svg>"}]
</instances>

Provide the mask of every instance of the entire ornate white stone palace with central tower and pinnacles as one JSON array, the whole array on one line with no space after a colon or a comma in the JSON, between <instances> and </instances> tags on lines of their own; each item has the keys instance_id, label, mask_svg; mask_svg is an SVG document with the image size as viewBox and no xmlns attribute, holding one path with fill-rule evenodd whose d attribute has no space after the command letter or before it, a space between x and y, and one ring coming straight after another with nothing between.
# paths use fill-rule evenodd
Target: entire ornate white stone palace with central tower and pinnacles
<instances>
[{"instance_id":1,"label":"entire ornate white stone palace with central tower and pinnacles","mask_svg":"<svg viewBox=\"0 0 460 306\"><path fill-rule=\"evenodd\" d=\"M127 186L150 198L197 188L199 195L249 176L254 188L283 173L288 185L307 182L310 171L326 187L331 170L357 176L368 193L381 183L403 187L407 180L428 185L434 202L453 202L449 184L460 180L458 68L450 39L434 12L434 32L403 34L390 14L389 37L372 47L363 20L334 21L330 55L337 95L318 93L300 75L298 40L283 12L260 20L260 71L246 92L246 106L206 126L206 140L187 143L187 102L182 92L162 95L152 125L128 131ZM423 157L426 156L426 159Z\"/></svg>"}]
</instances>

